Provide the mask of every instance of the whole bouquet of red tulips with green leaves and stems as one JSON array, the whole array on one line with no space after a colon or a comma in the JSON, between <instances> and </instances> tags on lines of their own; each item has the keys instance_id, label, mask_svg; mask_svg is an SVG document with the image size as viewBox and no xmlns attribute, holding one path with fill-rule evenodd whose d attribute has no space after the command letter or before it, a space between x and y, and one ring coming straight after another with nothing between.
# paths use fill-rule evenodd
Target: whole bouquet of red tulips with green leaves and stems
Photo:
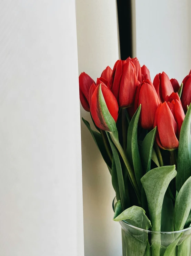
<instances>
[{"instance_id":1,"label":"whole bouquet of red tulips with green leaves and stems","mask_svg":"<svg viewBox=\"0 0 191 256\"><path fill-rule=\"evenodd\" d=\"M181 85L164 72L152 83L148 68L129 57L97 82L81 73L79 86L95 129L83 122L116 193L113 220L148 230L123 230L123 255L190 256L191 72ZM166 246L161 232L174 232Z\"/></svg>"}]
</instances>

